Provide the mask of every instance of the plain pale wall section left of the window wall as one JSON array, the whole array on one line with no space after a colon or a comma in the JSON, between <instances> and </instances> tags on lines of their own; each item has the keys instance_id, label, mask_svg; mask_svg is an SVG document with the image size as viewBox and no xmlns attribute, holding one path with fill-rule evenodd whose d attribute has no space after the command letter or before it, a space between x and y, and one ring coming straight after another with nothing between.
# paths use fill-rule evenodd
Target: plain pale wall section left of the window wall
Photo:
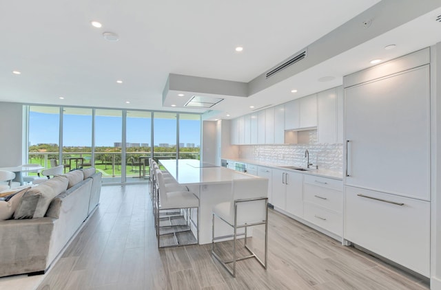
<instances>
[{"instance_id":1,"label":"plain pale wall section left of the window wall","mask_svg":"<svg viewBox=\"0 0 441 290\"><path fill-rule=\"evenodd\" d=\"M23 105L0 102L0 167L22 163Z\"/></svg>"}]
</instances>

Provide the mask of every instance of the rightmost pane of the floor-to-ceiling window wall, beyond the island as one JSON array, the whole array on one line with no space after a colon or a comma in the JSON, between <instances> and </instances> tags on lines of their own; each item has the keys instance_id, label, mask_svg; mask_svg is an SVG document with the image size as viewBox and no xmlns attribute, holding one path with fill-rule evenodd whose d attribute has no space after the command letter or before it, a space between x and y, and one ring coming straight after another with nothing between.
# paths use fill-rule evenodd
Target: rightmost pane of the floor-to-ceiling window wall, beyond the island
<instances>
[{"instance_id":1,"label":"rightmost pane of the floor-to-ceiling window wall, beyond the island","mask_svg":"<svg viewBox=\"0 0 441 290\"><path fill-rule=\"evenodd\" d=\"M201 116L179 114L179 159L201 159Z\"/></svg>"}]
</instances>

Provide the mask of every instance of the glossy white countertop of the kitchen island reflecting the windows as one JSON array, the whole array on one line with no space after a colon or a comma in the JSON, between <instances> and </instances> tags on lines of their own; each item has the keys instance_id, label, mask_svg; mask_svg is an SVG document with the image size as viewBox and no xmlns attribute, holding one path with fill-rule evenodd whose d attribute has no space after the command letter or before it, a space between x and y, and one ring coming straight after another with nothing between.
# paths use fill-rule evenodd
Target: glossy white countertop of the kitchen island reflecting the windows
<instances>
[{"instance_id":1,"label":"glossy white countertop of the kitchen island reflecting the windows","mask_svg":"<svg viewBox=\"0 0 441 290\"><path fill-rule=\"evenodd\" d=\"M233 179L252 179L253 175L247 175L214 164L201 163L195 159L165 159L160 164L178 181L184 185L203 185L216 183L231 183Z\"/></svg>"}]
</instances>

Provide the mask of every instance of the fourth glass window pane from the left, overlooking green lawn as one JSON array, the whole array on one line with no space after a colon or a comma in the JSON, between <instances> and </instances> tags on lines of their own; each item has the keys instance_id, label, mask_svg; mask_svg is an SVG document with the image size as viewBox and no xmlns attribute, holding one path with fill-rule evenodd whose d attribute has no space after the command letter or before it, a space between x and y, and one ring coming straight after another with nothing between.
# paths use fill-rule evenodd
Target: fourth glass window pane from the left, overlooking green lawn
<instances>
[{"instance_id":1,"label":"fourth glass window pane from the left, overlooking green lawn","mask_svg":"<svg viewBox=\"0 0 441 290\"><path fill-rule=\"evenodd\" d=\"M126 181L145 182L152 140L152 113L127 111L125 130Z\"/></svg>"}]
</instances>

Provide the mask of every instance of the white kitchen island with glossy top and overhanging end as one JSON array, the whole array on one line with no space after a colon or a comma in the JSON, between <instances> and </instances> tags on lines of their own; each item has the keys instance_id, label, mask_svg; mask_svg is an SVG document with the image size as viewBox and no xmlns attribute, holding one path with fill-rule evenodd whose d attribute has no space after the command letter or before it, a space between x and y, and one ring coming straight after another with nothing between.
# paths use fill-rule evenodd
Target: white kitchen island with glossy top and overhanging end
<instances>
[{"instance_id":1,"label":"white kitchen island with glossy top and overhanging end","mask_svg":"<svg viewBox=\"0 0 441 290\"><path fill-rule=\"evenodd\" d=\"M178 183L187 186L199 198L197 224L201 245L212 242L212 210L216 204L231 200L233 179L249 179L252 182L256 178L262 178L195 159L169 159L159 163ZM249 192L248 197L258 196L256 192ZM227 225L216 223L217 235L231 232Z\"/></svg>"}]
</instances>

